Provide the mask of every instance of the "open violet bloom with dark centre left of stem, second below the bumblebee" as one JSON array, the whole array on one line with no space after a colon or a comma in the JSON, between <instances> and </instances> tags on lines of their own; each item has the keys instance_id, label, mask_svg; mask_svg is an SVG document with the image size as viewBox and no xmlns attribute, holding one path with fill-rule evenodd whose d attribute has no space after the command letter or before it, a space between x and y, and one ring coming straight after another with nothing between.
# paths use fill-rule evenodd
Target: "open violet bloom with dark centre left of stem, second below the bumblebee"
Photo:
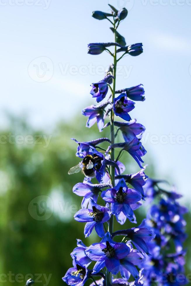
<instances>
[{"instance_id":1,"label":"open violet bloom with dark centre left of stem, second below the bumblebee","mask_svg":"<svg viewBox=\"0 0 191 286\"><path fill-rule=\"evenodd\" d=\"M101 207L93 200L90 201L90 204L89 209L81 209L74 214L74 219L77 222L86 222L85 237L90 236L94 227L98 236L103 237L105 234L103 224L110 219L111 212L107 207Z\"/></svg>"}]
</instances>

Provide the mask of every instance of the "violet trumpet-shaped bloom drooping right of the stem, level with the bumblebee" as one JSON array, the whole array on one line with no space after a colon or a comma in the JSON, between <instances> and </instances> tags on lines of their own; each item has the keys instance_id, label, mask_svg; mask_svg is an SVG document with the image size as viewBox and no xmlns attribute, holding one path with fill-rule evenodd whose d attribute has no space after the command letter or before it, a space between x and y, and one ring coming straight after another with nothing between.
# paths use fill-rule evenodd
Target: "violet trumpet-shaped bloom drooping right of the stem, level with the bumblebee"
<instances>
[{"instance_id":1,"label":"violet trumpet-shaped bloom drooping right of the stem, level with the bumblebee","mask_svg":"<svg viewBox=\"0 0 191 286\"><path fill-rule=\"evenodd\" d=\"M141 163L144 163L144 161L141 159L141 157L144 156L147 153L147 151L137 138L134 138L130 142L116 143L110 145L106 150L106 154L112 148L121 148L121 151L127 151L135 159L139 167L143 168Z\"/></svg>"}]
</instances>

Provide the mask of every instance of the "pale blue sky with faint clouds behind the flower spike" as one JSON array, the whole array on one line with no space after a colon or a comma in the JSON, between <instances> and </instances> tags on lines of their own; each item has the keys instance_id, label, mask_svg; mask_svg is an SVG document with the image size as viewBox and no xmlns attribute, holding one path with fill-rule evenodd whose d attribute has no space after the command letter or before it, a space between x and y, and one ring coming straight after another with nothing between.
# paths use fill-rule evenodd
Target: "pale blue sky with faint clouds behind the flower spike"
<instances>
[{"instance_id":1,"label":"pale blue sky with faint clouds behind the flower spike","mask_svg":"<svg viewBox=\"0 0 191 286\"><path fill-rule=\"evenodd\" d=\"M88 55L87 44L113 41L110 23L91 17L109 12L108 3L128 9L119 33L144 48L119 62L117 89L144 85L146 100L131 117L146 127L157 177L170 178L190 202L191 0L0 0L0 128L5 111L52 130L95 103L90 84L112 59Z\"/></svg>"}]
</instances>

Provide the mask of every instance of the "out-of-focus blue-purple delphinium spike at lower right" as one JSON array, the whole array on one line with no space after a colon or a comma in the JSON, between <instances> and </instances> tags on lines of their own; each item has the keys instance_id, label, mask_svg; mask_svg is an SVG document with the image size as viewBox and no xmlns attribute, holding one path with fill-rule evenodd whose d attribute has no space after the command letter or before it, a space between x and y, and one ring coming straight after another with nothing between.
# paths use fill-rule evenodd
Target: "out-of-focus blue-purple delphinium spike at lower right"
<instances>
[{"instance_id":1,"label":"out-of-focus blue-purple delphinium spike at lower right","mask_svg":"<svg viewBox=\"0 0 191 286\"><path fill-rule=\"evenodd\" d=\"M145 224L156 233L149 243L150 256L143 263L144 285L185 285L184 275L186 239L183 215L187 209L181 206L177 199L181 197L172 191L161 188L165 181L149 179L145 185L145 194L153 200ZM174 253L172 253L174 252Z\"/></svg>"}]
</instances>

